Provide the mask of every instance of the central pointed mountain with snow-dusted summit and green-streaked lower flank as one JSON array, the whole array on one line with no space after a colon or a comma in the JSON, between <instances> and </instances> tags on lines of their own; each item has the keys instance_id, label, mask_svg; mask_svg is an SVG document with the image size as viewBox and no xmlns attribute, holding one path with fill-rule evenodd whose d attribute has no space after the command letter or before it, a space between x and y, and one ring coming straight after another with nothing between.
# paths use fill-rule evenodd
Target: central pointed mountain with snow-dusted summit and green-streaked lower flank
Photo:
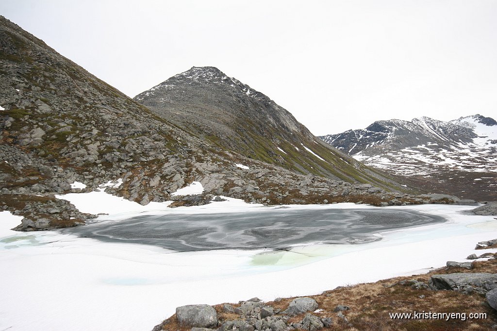
<instances>
[{"instance_id":1,"label":"central pointed mountain with snow-dusted summit and green-streaked lower flank","mask_svg":"<svg viewBox=\"0 0 497 331\"><path fill-rule=\"evenodd\" d=\"M222 151L300 173L395 185L384 173L324 144L265 94L215 67L192 67L134 100Z\"/></svg>"}]
</instances>

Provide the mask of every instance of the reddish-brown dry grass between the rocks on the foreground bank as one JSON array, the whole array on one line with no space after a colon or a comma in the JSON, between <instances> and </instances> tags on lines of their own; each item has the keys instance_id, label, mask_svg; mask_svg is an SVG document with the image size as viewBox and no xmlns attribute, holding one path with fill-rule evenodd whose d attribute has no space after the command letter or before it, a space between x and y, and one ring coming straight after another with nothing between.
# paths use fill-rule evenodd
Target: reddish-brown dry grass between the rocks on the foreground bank
<instances>
[{"instance_id":1,"label":"reddish-brown dry grass between the rocks on the foreground bank","mask_svg":"<svg viewBox=\"0 0 497 331\"><path fill-rule=\"evenodd\" d=\"M497 254L495 254L497 256ZM497 258L487 261L475 261L474 268L467 270L457 267L446 267L433 270L426 274L409 277L397 277L380 280L375 283L357 284L325 291L320 295L311 296L324 311L314 313L320 317L331 317L333 324L323 330L364 330L364 331L452 331L452 330L491 330L497 324L497 312L485 300L485 296L478 293L463 294L456 291L431 291L427 289L413 289L410 285L399 284L402 280L416 279L428 283L433 274L454 272L490 272L497 270ZM294 298L285 298L279 302L267 302L266 305L275 309L284 310ZM232 304L238 307L238 304ZM346 305L350 310L343 312L348 319L346 323L337 316L333 310L337 305ZM214 306L218 313L219 321L235 320L240 318L234 313L223 311L222 304ZM486 319L459 319L445 320L393 320L389 313L486 313ZM298 323L305 314L292 317L289 321ZM164 326L167 331L187 331L189 328L180 328L173 315Z\"/></svg>"}]
</instances>

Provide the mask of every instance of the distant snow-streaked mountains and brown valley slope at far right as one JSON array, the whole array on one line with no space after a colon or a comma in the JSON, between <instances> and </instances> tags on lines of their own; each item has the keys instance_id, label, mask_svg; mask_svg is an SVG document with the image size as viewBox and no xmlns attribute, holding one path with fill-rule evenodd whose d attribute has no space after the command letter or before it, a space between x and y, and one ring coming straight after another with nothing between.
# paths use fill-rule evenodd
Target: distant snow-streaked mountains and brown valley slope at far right
<instances>
[{"instance_id":1,"label":"distant snow-streaked mountains and brown valley slope at far right","mask_svg":"<svg viewBox=\"0 0 497 331\"><path fill-rule=\"evenodd\" d=\"M490 117L393 119L320 138L367 165L408 176L427 190L497 198L497 122Z\"/></svg>"}]
</instances>

